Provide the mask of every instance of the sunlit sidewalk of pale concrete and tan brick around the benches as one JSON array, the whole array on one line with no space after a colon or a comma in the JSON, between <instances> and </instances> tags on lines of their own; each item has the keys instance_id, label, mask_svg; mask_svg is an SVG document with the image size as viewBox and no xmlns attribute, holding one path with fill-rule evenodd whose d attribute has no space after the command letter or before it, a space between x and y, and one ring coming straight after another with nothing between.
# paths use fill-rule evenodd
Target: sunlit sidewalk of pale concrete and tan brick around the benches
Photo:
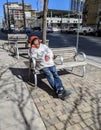
<instances>
[{"instance_id":1,"label":"sunlit sidewalk of pale concrete and tan brick around the benches","mask_svg":"<svg viewBox=\"0 0 101 130\"><path fill-rule=\"evenodd\" d=\"M88 64L85 78L77 76L79 67L59 73L73 91L62 101L45 78L39 77L36 89L28 83L26 57L17 60L2 49L0 54L0 130L101 130L100 68Z\"/></svg>"}]
</instances>

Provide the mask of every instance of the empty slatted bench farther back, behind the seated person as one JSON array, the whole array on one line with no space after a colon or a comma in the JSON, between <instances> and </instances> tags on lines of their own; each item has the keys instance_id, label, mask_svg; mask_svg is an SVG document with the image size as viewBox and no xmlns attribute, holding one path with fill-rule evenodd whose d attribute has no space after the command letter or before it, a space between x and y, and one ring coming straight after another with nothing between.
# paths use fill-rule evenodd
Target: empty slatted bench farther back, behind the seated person
<instances>
[{"instance_id":1,"label":"empty slatted bench farther back, behind the seated person","mask_svg":"<svg viewBox=\"0 0 101 130\"><path fill-rule=\"evenodd\" d=\"M19 59L19 45L25 44L25 47L28 46L28 36L27 34L8 34L8 44L12 45L14 53Z\"/></svg>"}]
</instances>

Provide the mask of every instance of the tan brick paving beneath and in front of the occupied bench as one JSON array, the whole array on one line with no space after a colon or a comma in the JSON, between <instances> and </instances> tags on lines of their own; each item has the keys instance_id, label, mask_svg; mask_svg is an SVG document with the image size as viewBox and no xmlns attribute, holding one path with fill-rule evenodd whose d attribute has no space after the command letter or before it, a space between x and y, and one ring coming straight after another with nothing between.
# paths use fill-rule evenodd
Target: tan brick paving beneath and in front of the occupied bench
<instances>
[{"instance_id":1,"label":"tan brick paving beneath and in front of the occupied bench","mask_svg":"<svg viewBox=\"0 0 101 130\"><path fill-rule=\"evenodd\" d=\"M37 88L33 77L28 81L27 58L20 57L17 62L47 130L101 130L101 69L88 64L84 78L77 75L79 67L72 73L59 72L64 87L73 91L62 101L45 78L39 76Z\"/></svg>"}]
</instances>

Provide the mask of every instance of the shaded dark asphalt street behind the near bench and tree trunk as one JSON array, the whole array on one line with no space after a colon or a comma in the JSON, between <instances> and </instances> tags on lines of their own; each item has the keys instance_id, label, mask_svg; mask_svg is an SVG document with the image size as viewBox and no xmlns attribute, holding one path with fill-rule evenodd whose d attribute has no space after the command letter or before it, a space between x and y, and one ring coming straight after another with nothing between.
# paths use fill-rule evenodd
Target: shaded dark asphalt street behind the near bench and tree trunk
<instances>
[{"instance_id":1,"label":"shaded dark asphalt street behind the near bench and tree trunk","mask_svg":"<svg viewBox=\"0 0 101 130\"><path fill-rule=\"evenodd\" d=\"M40 32L34 32L33 35L42 38ZM76 46L77 35L48 33L47 39L49 39L49 46L53 48ZM85 52L87 59L101 64L101 37L80 35L78 51Z\"/></svg>"}]
</instances>

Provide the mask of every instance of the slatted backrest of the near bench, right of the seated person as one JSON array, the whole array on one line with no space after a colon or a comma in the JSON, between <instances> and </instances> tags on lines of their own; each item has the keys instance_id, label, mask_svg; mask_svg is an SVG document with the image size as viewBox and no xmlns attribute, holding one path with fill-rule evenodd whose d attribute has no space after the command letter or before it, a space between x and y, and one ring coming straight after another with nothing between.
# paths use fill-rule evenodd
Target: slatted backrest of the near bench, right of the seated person
<instances>
[{"instance_id":1,"label":"slatted backrest of the near bench, right of the seated person","mask_svg":"<svg viewBox=\"0 0 101 130\"><path fill-rule=\"evenodd\" d=\"M64 62L73 61L77 50L75 47L51 48L54 56L62 56ZM58 58L56 58L58 60Z\"/></svg>"}]
</instances>

